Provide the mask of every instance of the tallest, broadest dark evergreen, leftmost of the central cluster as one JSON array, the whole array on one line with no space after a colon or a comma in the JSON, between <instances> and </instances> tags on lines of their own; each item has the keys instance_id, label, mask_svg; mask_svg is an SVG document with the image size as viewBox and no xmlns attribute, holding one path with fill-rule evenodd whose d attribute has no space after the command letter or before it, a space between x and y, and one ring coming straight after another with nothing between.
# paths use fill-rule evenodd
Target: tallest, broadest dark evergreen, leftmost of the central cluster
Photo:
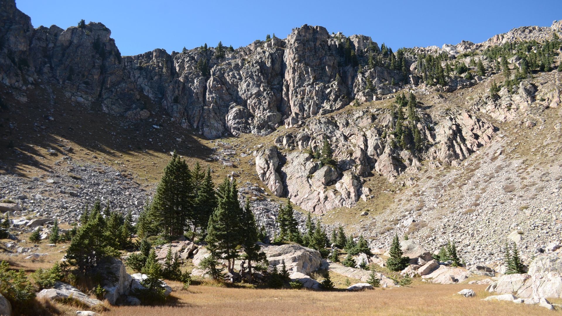
<instances>
[{"instance_id":1,"label":"tallest, broadest dark evergreen, leftmost of the central cluster","mask_svg":"<svg viewBox=\"0 0 562 316\"><path fill-rule=\"evenodd\" d=\"M187 220L193 218L192 193L191 171L185 160L174 151L151 204L166 236L183 235Z\"/></svg>"}]
</instances>

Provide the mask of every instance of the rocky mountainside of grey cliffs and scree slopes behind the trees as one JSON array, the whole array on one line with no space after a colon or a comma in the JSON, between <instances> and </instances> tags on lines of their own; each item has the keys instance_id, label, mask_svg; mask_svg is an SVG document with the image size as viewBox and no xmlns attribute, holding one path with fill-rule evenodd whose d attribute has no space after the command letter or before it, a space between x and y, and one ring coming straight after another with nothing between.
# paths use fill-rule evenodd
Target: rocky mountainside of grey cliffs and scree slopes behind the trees
<instances>
[{"instance_id":1,"label":"rocky mountainside of grey cliffs and scree slopes behind the trees","mask_svg":"<svg viewBox=\"0 0 562 316\"><path fill-rule=\"evenodd\" d=\"M69 229L99 199L136 222L174 151L190 168L209 166L215 184L234 180L270 240L287 198L302 233L310 212L328 235L341 225L364 236L383 280L394 276L383 264L394 236L434 255L454 242L473 273L452 283L497 281L506 242L525 269L559 254L562 21L396 51L303 25L236 49L121 56L102 23L34 28L15 1L0 9L0 210L16 240L3 242L2 255L13 267L31 272L62 258L26 243L29 220ZM39 229L47 236L51 227ZM36 267L19 248L49 254ZM183 259L197 269L196 253ZM335 278L356 277L320 261Z\"/></svg>"}]
</instances>

